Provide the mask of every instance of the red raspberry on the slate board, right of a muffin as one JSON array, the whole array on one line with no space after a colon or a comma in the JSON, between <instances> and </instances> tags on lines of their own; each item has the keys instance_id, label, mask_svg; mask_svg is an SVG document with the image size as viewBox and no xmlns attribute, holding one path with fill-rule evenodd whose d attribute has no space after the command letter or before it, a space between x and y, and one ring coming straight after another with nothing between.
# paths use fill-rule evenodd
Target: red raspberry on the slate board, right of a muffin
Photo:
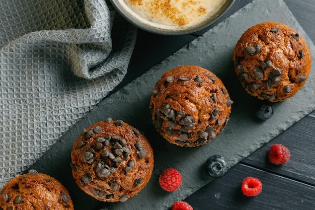
<instances>
[{"instance_id":1,"label":"red raspberry on the slate board, right of a muffin","mask_svg":"<svg viewBox=\"0 0 315 210\"><path fill-rule=\"evenodd\" d=\"M168 168L160 175L159 182L164 190L172 192L182 184L182 175L176 169Z\"/></svg>"}]
</instances>

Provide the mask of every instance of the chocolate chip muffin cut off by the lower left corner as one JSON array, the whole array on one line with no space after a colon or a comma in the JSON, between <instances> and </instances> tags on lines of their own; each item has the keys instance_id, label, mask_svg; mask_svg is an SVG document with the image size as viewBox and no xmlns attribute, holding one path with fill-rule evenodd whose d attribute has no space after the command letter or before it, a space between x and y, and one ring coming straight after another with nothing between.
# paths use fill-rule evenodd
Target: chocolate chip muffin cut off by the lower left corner
<instances>
[{"instance_id":1,"label":"chocolate chip muffin cut off by the lower left corner","mask_svg":"<svg viewBox=\"0 0 315 210\"><path fill-rule=\"evenodd\" d=\"M58 180L32 169L2 188L0 209L73 210L74 207L67 189Z\"/></svg>"}]
</instances>

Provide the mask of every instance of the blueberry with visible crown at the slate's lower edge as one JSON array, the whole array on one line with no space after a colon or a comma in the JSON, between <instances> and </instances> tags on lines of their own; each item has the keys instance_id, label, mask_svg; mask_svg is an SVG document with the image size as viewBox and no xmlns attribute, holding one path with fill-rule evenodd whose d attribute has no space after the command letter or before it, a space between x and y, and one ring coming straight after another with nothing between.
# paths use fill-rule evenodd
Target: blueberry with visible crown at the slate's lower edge
<instances>
[{"instance_id":1,"label":"blueberry with visible crown at the slate's lower edge","mask_svg":"<svg viewBox=\"0 0 315 210\"><path fill-rule=\"evenodd\" d=\"M213 155L206 161L206 172L208 175L219 178L223 177L228 171L228 163L220 155Z\"/></svg>"}]
</instances>

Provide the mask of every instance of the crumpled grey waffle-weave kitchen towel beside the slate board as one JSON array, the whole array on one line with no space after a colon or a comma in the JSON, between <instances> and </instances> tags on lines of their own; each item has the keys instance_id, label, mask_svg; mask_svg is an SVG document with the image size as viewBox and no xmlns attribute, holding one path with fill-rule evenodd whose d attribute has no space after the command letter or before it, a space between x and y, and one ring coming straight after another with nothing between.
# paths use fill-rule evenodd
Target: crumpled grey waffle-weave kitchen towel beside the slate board
<instances>
[{"instance_id":1,"label":"crumpled grey waffle-weave kitchen towel beside the slate board","mask_svg":"<svg viewBox=\"0 0 315 210\"><path fill-rule=\"evenodd\" d=\"M105 0L0 1L0 187L121 82L135 39Z\"/></svg>"}]
</instances>

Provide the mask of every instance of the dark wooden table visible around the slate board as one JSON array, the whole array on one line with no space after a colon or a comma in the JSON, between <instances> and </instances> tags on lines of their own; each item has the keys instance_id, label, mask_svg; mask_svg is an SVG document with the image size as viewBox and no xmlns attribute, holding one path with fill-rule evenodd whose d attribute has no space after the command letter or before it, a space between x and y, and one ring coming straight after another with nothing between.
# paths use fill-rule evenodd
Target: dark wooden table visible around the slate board
<instances>
[{"instance_id":1,"label":"dark wooden table visible around the slate board","mask_svg":"<svg viewBox=\"0 0 315 210\"><path fill-rule=\"evenodd\" d=\"M252 0L236 0L217 23L250 2ZM314 0L285 0L285 3L306 34L315 42ZM127 76L113 92L159 64L211 27L183 36L163 36L139 30ZM314 125L315 112L312 112L233 166L226 176L211 181L186 201L194 210L315 209ZM270 164L267 158L269 148L278 143L288 147L291 153L289 162L281 166ZM248 176L257 177L263 183L263 190L256 197L246 197L240 193L241 183Z\"/></svg>"}]
</instances>

